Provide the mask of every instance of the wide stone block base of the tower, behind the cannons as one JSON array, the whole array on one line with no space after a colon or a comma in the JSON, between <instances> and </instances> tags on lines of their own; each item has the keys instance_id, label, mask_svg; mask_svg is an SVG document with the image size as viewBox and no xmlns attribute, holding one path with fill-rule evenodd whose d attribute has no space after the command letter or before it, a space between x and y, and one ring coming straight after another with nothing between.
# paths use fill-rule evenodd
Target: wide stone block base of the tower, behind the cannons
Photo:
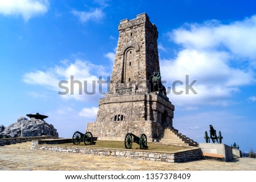
<instances>
[{"instance_id":1,"label":"wide stone block base of the tower, behind the cannons","mask_svg":"<svg viewBox=\"0 0 256 182\"><path fill-rule=\"evenodd\" d=\"M86 132L100 140L123 141L127 133L144 133L148 141L154 141L162 136L164 128L172 128L174 105L155 93L106 96L99 104L97 120L88 123Z\"/></svg>"}]
</instances>

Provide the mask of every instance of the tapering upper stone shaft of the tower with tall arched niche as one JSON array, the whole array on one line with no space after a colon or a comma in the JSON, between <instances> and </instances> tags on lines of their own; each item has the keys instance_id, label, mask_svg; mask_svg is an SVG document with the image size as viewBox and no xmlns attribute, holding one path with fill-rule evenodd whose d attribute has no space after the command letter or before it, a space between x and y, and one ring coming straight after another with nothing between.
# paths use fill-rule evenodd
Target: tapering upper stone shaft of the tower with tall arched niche
<instances>
[{"instance_id":1,"label":"tapering upper stone shaft of the tower with tall arched niche","mask_svg":"<svg viewBox=\"0 0 256 182\"><path fill-rule=\"evenodd\" d=\"M131 88L134 84L138 86L143 83L146 88L144 91L150 91L148 81L154 71L160 73L156 26L150 22L146 13L142 13L135 19L121 20L118 31L110 92L117 92L123 83Z\"/></svg>"}]
</instances>

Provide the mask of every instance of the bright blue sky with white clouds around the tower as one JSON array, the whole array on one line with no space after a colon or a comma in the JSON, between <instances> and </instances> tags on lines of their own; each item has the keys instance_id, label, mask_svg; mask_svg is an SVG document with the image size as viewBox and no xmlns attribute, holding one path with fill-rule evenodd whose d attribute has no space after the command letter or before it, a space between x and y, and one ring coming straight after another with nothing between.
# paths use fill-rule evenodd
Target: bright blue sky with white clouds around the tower
<instances>
[{"instance_id":1,"label":"bright blue sky with white clouds around the tower","mask_svg":"<svg viewBox=\"0 0 256 182\"><path fill-rule=\"evenodd\" d=\"M256 150L254 1L0 1L0 124L39 112L60 137L84 132L103 95L97 84L94 95L58 95L58 83L74 75L90 91L111 75L119 21L142 12L158 27L165 86L197 80L197 94L168 95L174 127L205 142L212 124L227 145Z\"/></svg>"}]
</instances>

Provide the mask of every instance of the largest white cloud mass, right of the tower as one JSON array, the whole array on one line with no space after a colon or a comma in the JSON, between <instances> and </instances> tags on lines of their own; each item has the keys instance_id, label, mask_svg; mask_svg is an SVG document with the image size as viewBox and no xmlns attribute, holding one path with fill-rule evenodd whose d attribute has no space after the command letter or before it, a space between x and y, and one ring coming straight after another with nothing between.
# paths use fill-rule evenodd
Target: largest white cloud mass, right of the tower
<instances>
[{"instance_id":1,"label":"largest white cloud mass, right of the tower","mask_svg":"<svg viewBox=\"0 0 256 182\"><path fill-rule=\"evenodd\" d=\"M197 95L171 94L176 105L229 105L241 86L255 84L256 16L241 22L221 24L216 20L204 24L186 24L169 33L182 45L174 59L160 60L162 79L167 86L179 80L177 91L185 91L185 75ZM244 38L242 38L244 37ZM255 45L254 45L255 44ZM188 83L188 84L189 84Z\"/></svg>"}]
</instances>

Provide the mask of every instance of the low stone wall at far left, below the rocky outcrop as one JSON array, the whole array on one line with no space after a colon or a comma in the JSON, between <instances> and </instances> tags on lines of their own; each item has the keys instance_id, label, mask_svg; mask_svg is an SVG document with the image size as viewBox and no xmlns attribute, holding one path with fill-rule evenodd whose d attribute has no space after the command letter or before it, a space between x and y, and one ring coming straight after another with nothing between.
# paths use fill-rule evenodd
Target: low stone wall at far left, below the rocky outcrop
<instances>
[{"instance_id":1,"label":"low stone wall at far left, below the rocky outcrop","mask_svg":"<svg viewBox=\"0 0 256 182\"><path fill-rule=\"evenodd\" d=\"M39 137L20 137L20 138L1 138L0 139L0 146L10 145L13 143L21 143L21 142L28 142L32 140L38 139L55 139L58 137L55 136L39 136Z\"/></svg>"}]
</instances>

